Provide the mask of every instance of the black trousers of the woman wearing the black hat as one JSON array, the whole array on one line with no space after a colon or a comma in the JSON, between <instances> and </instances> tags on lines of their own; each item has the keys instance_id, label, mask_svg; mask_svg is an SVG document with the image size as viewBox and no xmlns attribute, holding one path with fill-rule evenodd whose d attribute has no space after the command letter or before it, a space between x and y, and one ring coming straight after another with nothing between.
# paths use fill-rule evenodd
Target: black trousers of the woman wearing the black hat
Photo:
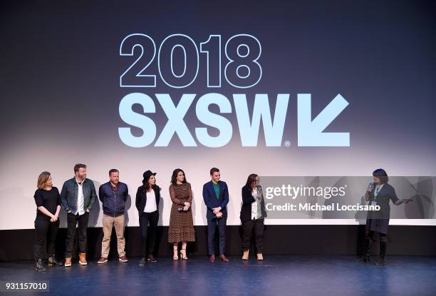
<instances>
[{"instance_id":1,"label":"black trousers of the woman wearing the black hat","mask_svg":"<svg viewBox=\"0 0 436 296\"><path fill-rule=\"evenodd\" d=\"M147 238L148 238L148 255L153 255L155 251L156 228L159 221L159 211L155 210L152 213L142 212L140 214L140 230L141 230L141 256L147 256ZM147 228L147 225L150 226Z\"/></svg>"}]
</instances>

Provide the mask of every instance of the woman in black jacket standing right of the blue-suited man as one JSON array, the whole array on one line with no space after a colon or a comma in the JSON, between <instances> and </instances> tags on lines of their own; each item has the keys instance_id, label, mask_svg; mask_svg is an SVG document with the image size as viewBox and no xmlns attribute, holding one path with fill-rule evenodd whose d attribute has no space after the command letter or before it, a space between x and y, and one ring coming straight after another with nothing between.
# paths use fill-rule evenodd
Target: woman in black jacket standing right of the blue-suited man
<instances>
[{"instance_id":1,"label":"woman in black jacket standing right of the blue-suited man","mask_svg":"<svg viewBox=\"0 0 436 296\"><path fill-rule=\"evenodd\" d=\"M251 174L242 188L242 260L248 260L251 236L254 230L256 242L257 260L264 260L262 255L263 238L264 238L264 218L266 217L264 195L262 194L261 185L259 185L259 176Z\"/></svg>"}]
</instances>

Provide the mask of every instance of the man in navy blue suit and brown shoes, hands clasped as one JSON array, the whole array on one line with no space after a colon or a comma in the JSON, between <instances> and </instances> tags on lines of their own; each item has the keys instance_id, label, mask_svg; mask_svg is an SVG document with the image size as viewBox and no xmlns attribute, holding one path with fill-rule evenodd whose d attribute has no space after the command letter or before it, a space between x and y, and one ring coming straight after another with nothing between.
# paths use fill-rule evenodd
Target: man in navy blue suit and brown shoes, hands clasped
<instances>
[{"instance_id":1,"label":"man in navy blue suit and brown shoes, hands clasped","mask_svg":"<svg viewBox=\"0 0 436 296\"><path fill-rule=\"evenodd\" d=\"M224 181L220 181L218 168L210 169L212 180L203 185L203 200L207 206L207 247L209 261L215 262L215 230L218 225L219 259L229 262L224 255L226 248L227 203L229 203L229 189Z\"/></svg>"}]
</instances>

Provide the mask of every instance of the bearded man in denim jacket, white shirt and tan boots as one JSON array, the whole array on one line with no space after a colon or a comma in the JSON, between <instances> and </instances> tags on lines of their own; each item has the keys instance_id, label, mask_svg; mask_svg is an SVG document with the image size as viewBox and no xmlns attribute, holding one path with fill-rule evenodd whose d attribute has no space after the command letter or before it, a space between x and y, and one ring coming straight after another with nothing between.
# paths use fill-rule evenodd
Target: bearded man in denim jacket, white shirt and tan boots
<instances>
[{"instance_id":1,"label":"bearded man in denim jacket, white shirt and tan boots","mask_svg":"<svg viewBox=\"0 0 436 296\"><path fill-rule=\"evenodd\" d=\"M86 165L74 165L75 176L63 183L61 191L61 204L67 213L67 238L65 252L65 266L71 266L71 253L73 252L76 237L76 224L79 233L79 263L86 262L86 230L88 229L89 211L93 208L97 193L92 180L86 178Z\"/></svg>"}]
</instances>

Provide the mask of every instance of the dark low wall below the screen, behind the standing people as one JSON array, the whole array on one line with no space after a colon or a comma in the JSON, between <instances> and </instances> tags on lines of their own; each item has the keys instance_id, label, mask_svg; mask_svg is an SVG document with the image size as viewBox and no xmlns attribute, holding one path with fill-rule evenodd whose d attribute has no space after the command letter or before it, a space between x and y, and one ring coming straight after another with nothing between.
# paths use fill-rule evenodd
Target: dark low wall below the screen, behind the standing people
<instances>
[{"instance_id":1,"label":"dark low wall below the screen, behind the standing people","mask_svg":"<svg viewBox=\"0 0 436 296\"><path fill-rule=\"evenodd\" d=\"M172 254L167 243L167 227L157 230L157 256ZM364 225L266 225L264 232L264 254L286 255L357 255L363 252ZM207 227L195 226L197 241L188 245L190 255L207 255ZM0 230L0 260L33 259L34 230ZM63 258L66 229L61 228L56 240L56 253ZM100 257L102 228L88 229L88 258ZM128 257L140 255L140 229L125 229ZM240 255L240 226L227 226L227 255ZM373 252L378 251L378 243ZM77 241L76 241L77 250ZM251 247L254 250L254 247ZM393 225L388 233L390 255L436 255L435 226ZM117 256L115 230L111 239L110 257Z\"/></svg>"}]
</instances>

